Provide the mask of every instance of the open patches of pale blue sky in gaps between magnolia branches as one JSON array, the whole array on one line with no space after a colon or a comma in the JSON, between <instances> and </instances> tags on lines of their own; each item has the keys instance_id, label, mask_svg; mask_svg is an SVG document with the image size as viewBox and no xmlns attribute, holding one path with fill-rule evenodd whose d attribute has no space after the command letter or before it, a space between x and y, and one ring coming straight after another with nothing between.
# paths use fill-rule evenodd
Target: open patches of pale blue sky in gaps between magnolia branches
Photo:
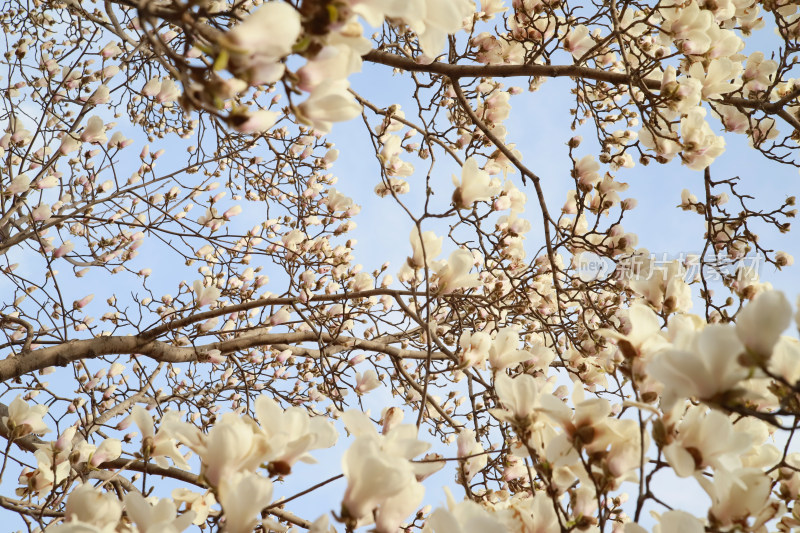
<instances>
[{"instance_id":1,"label":"open patches of pale blue sky in gaps between magnolia branches","mask_svg":"<svg viewBox=\"0 0 800 533\"><path fill-rule=\"evenodd\" d=\"M518 80L519 83L522 81ZM508 80L506 85L513 85L514 82L514 80ZM413 120L413 107L407 102L411 87L409 80L404 76L392 76L391 68L365 65L362 74L352 77L352 85L356 91L380 107L387 107L394 103L402 104L403 109L408 113L408 118ZM560 206L563 205L566 192L573 187L573 182L569 177L570 162L566 147L566 141L574 135L574 132L569 129L570 116L568 114L568 109L573 103L569 93L571 88L572 84L567 79L548 80L538 92L523 93L523 95L514 97L512 99L512 115L506 123L509 130L508 141L517 144L517 148L523 153L525 164L541 176L546 199L555 213L558 213ZM373 115L370 116L373 124L379 120ZM714 119L711 119L711 122L716 124ZM584 136L586 142L576 153L578 155L593 153L593 143L589 140L591 131L584 129L578 133ZM358 226L351 234L359 241L355 254L357 262L364 265L365 271L371 271L389 261L391 263L389 272L395 274L406 256L409 255L408 235L412 223L391 199L380 199L373 192L375 185L379 183L379 163L371 153L371 144L360 118L334 125L329 139L341 152L339 160L332 169L332 172L339 177L336 188L353 197L362 206L361 214L355 219ZM418 139L419 136L417 136ZM765 160L747 146L747 141L743 136L726 135L726 141L728 144L725 154L713 166L715 177L741 176L741 189L755 196L758 206L774 207L779 205L786 195L800 192L797 169ZM139 148L136 146L140 147L141 145L137 143L135 147L128 149L132 155L138 154ZM173 146L175 147L173 149L178 150L177 154L182 157L183 147ZM411 160L410 156L407 157ZM167 163L165 159L162 160L162 164ZM418 171L427 168L424 163L420 164L419 161L414 161L414 163ZM433 183L441 191L437 197L438 201L446 204L449 202L453 188L450 174L457 172L457 169L450 163L441 163L440 159ZM409 178L412 192L408 199L412 210L413 206L419 207L420 205L423 179L421 172ZM514 179L519 184L519 174L515 174ZM654 253L679 254L700 251L703 243L702 218L697 214L681 211L675 206L680 202L680 193L683 188L688 188L701 196L701 172L690 170L681 166L678 161L673 161L668 165L651 164L648 167L637 165L634 169L623 169L617 173L617 179L630 185L624 196L634 197L639 202L638 207L629 212L623 222L628 231L634 231L639 235L639 246L646 247ZM541 224L538 219L537 207L532 199L532 189L529 186L523 190L529 196L529 209L525 216L532 223L532 230L528 235L528 254L529 257L532 257L542 244ZM207 195L203 195L203 197L205 196ZM204 207L198 204L195 209L204 209ZM242 219L244 220L246 216L247 214L244 214ZM424 228L426 230L434 230L439 234L447 231L446 227L437 227L430 221L427 224ZM785 250L800 259L800 239L793 233L777 235L773 231L765 233L762 237L768 247ZM163 276L160 281L154 277L153 281L158 284L160 289L160 291L155 291L157 294L162 292L173 292L174 294L175 285L180 278L191 283L192 280L200 277L196 272L197 264L191 268L175 268L167 262L153 265L153 257L159 257L155 253L157 250L157 245L148 243L143 247L141 257L143 264L153 266L154 270L159 273L158 275ZM446 256L446 253L447 248L443 256ZM23 268L31 268L31 264L25 265ZM66 270L66 266L63 268ZM776 288L786 291L790 300L794 301L795 296L800 292L800 278L797 276L796 268L796 266L789 267L782 272L777 272L773 267L766 266L762 269L761 276L763 280L772 282ZM71 301L86 292L91 292L92 286L110 284L117 282L118 279L118 277L97 275L91 279L84 278L68 285L68 292L74 293L75 296L69 295L65 299ZM277 287L282 289L280 283L277 283ZM0 290L2 289L3 286L0 285ZM98 294L98 300L102 304L100 294ZM699 312L699 309L696 307L695 311ZM386 390L378 390L367 396L366 404L373 407L373 415L377 415L379 407L397 405L399 402L399 399L392 399ZM407 418L406 421L410 420ZM423 435L423 438L425 437L427 435ZM343 439L342 442L347 441ZM320 464L311 467L298 465L296 473L289 478L287 485L276 487L275 495L291 494L294 490L314 484L322 477L319 475L320 471L325 475L338 474L341 471L339 457L343 450L344 447L340 445L333 450L315 452L314 455L320 460ZM451 454L453 450L454 447L451 447ZM431 478L426 483L428 487L427 502L436 505L444 501L444 494L439 487L445 484L453 485L452 474L453 470L448 467L442 474ZM9 481L10 478L6 480L6 483ZM672 483L675 483L674 480ZM342 480L337 481L306 499L293 502L289 508L311 519L318 514L327 512L330 508L338 510L338 501L344 491L344 484L345 482ZM683 482L675 483L671 485L674 487L671 490L673 490L674 496L680 498L689 508L696 505L697 494L698 492L702 494L702 492L692 492L684 485ZM456 491L458 490L456 489Z\"/></svg>"}]
</instances>

